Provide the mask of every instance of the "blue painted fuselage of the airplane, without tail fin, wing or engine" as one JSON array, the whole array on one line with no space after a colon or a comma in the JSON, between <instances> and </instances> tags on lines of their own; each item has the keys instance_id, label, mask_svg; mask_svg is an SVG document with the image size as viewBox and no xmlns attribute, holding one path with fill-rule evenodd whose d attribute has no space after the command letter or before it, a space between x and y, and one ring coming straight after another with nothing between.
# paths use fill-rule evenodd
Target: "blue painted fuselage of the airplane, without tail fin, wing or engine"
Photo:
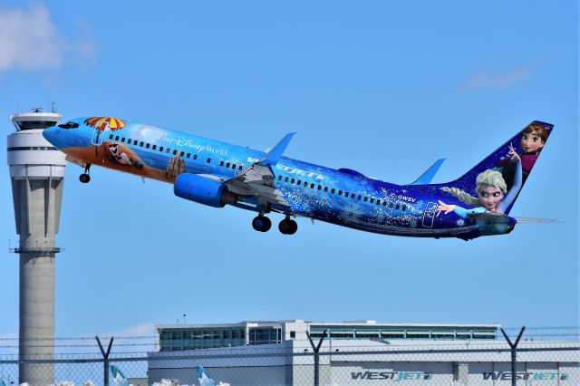
<instances>
[{"instance_id":1,"label":"blue painted fuselage of the airplane, without tail fin, wing or engine","mask_svg":"<svg viewBox=\"0 0 580 386\"><path fill-rule=\"evenodd\" d=\"M91 120L95 119L75 119L67 123L68 128L45 130L44 136L81 166L99 165L171 184L177 184L183 174L227 184L267 157L264 151L152 125L121 121L114 128L115 123L107 121L98 127ZM446 184L395 185L352 169L331 169L287 157L265 167L271 176L263 176L263 185L278 200L265 201L234 189L235 198L227 203L394 236L470 239L505 234L516 224L512 217L489 213L438 216L442 199L465 207L459 198L442 191Z\"/></svg>"}]
</instances>

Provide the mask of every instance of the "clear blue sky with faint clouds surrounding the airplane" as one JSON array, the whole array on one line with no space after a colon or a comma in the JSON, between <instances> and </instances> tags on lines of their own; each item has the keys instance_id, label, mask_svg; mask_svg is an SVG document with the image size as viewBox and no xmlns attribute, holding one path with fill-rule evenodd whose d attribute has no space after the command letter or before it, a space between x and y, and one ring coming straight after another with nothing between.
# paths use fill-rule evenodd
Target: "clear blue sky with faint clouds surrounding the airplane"
<instances>
[{"instance_id":1,"label":"clear blue sky with faint clouds surrounding the airplane","mask_svg":"<svg viewBox=\"0 0 580 386\"><path fill-rule=\"evenodd\" d=\"M27 25L33 24L34 28ZM0 5L0 121L56 102L409 183L455 179L530 121L556 129L512 210L564 219L508 236L413 239L250 212L67 166L56 335L304 318L578 325L578 5L486 2L31 2ZM0 240L16 239L8 168ZM280 219L272 216L275 223ZM0 251L0 336L18 258Z\"/></svg>"}]
</instances>

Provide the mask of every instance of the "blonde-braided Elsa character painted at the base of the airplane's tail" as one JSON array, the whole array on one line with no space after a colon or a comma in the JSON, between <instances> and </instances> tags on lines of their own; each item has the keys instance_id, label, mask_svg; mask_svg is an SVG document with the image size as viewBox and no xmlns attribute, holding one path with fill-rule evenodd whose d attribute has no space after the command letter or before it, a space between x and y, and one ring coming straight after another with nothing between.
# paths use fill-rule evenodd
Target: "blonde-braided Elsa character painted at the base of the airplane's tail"
<instances>
[{"instance_id":1,"label":"blonde-braided Elsa character painted at the base of the airplane's tail","mask_svg":"<svg viewBox=\"0 0 580 386\"><path fill-rule=\"evenodd\" d=\"M443 187L441 190L459 198L461 202L473 208L459 207L458 205L445 204L439 201L437 217L441 212L446 215L453 211L459 217L466 218L469 215L489 212L492 214L504 214L508 207L517 198L517 193L522 187L522 162L512 145L509 145L509 157L516 163L516 175L513 186L507 190L507 184L501 173L497 170L487 169L478 174L475 191L478 197L472 197L469 193L459 188Z\"/></svg>"}]
</instances>

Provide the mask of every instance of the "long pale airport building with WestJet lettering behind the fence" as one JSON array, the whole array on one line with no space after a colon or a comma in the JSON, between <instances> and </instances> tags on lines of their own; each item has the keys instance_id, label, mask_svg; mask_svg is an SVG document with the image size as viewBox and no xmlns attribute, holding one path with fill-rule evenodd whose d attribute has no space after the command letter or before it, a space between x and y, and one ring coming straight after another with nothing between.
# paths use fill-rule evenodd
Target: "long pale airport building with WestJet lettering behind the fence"
<instances>
[{"instance_id":1,"label":"long pale airport building with WestJet lettering behind the fence","mask_svg":"<svg viewBox=\"0 0 580 386\"><path fill-rule=\"evenodd\" d=\"M309 385L316 377L320 385L510 385L511 352L498 328L304 320L159 325L148 376L150 384L198 385L203 367L216 384L230 385ZM520 342L517 384L578 385L579 362L577 342Z\"/></svg>"}]
</instances>

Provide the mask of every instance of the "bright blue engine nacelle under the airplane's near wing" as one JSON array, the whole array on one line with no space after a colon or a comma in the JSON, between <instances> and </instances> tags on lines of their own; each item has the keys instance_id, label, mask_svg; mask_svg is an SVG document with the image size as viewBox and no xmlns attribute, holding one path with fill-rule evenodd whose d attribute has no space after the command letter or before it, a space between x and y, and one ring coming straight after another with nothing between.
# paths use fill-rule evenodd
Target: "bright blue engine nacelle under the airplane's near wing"
<instances>
[{"instance_id":1,"label":"bright blue engine nacelle under the airplane's near wing","mask_svg":"<svg viewBox=\"0 0 580 386\"><path fill-rule=\"evenodd\" d=\"M237 196L227 190L224 184L196 174L180 174L173 185L173 193L209 207L224 207L236 203Z\"/></svg>"}]
</instances>

